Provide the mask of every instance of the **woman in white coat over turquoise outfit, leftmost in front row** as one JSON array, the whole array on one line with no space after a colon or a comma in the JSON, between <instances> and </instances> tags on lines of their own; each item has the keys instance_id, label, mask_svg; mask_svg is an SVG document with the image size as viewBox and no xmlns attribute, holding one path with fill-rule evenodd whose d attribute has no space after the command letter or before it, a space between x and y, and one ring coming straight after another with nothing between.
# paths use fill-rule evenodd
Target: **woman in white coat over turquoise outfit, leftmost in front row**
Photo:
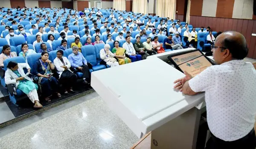
<instances>
[{"instance_id":1,"label":"woman in white coat over turquoise outfit, leftmost in front row","mask_svg":"<svg viewBox=\"0 0 256 149\"><path fill-rule=\"evenodd\" d=\"M34 108L40 109L43 106L39 103L38 85L33 83L33 80L25 74L23 68L26 68L28 73L30 73L29 64L10 61L7 65L4 80L6 84L15 85L15 90L20 89L24 92L34 103Z\"/></svg>"}]
</instances>

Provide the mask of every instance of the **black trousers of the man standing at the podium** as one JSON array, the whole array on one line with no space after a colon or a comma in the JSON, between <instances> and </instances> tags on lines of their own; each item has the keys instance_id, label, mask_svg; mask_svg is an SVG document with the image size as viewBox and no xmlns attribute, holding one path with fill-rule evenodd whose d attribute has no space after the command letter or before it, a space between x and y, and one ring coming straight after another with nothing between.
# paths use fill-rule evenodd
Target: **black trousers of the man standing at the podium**
<instances>
[{"instance_id":1,"label":"black trousers of the man standing at the podium","mask_svg":"<svg viewBox=\"0 0 256 149\"><path fill-rule=\"evenodd\" d=\"M252 129L248 135L239 140L224 141L211 133L211 138L207 141L205 149L255 149L256 136L255 131Z\"/></svg>"}]
</instances>

